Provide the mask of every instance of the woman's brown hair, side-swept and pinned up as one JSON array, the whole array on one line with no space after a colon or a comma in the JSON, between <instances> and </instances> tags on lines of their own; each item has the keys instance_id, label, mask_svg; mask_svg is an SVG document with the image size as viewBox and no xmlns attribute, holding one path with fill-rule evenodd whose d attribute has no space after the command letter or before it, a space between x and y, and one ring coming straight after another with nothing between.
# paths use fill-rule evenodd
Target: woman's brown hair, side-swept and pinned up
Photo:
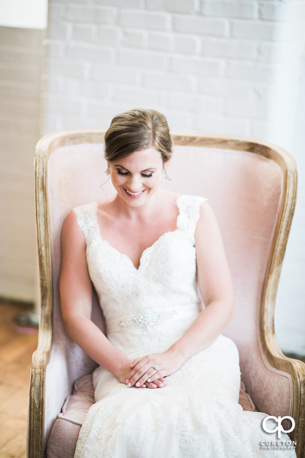
<instances>
[{"instance_id":1,"label":"woman's brown hair, side-swept and pinned up","mask_svg":"<svg viewBox=\"0 0 305 458\"><path fill-rule=\"evenodd\" d=\"M117 114L105 133L105 159L123 159L142 149L155 147L163 163L173 154L173 140L165 116L156 110L132 109Z\"/></svg>"}]
</instances>

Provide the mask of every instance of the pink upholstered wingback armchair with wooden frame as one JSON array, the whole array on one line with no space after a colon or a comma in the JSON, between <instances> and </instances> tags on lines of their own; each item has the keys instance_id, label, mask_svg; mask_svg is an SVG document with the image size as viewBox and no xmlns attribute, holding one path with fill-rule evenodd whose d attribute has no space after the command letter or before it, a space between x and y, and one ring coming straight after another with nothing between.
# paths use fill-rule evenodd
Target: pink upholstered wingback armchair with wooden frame
<instances>
[{"instance_id":1,"label":"pink upholstered wingback armchair with wooden frame","mask_svg":"<svg viewBox=\"0 0 305 458\"><path fill-rule=\"evenodd\" d=\"M103 136L102 130L64 131L37 143L42 311L32 359L28 458L42 458L46 449L48 458L73 457L80 426L93 402L90 374L97 365L65 332L58 278L63 219L71 208L114 192L110 181L100 187L106 181ZM223 334L239 349L242 382L256 410L294 418L295 428L289 435L297 442L298 458L305 458L305 365L284 356L273 327L295 207L294 159L279 147L247 138L178 133L173 138L171 180L163 187L205 196L216 213L235 291L234 318ZM92 319L105 332L95 291ZM69 397L73 384L76 394ZM253 410L252 401L242 384L243 408Z\"/></svg>"}]
</instances>

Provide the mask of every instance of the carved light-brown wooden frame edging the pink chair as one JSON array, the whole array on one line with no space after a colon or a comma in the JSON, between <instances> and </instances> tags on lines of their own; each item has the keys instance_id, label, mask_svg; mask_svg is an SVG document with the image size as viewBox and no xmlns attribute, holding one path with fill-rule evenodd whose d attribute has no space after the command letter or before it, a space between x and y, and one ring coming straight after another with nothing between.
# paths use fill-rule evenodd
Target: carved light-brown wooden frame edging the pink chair
<instances>
[{"instance_id":1,"label":"carved light-brown wooden frame edging the pink chair","mask_svg":"<svg viewBox=\"0 0 305 458\"><path fill-rule=\"evenodd\" d=\"M35 193L37 244L39 256L41 317L38 346L32 356L32 371L27 428L27 458L42 458L44 450L45 374L52 346L53 279L49 208L47 201L48 157L57 148L79 143L101 143L105 130L62 131L44 136L36 146ZM261 297L260 342L269 365L289 373L293 381L294 431L298 458L305 458L305 364L287 358L279 348L274 333L274 308L279 275L284 259L297 195L297 168L294 158L271 143L250 138L172 133L176 145L216 147L260 154L275 161L284 175L284 190Z\"/></svg>"}]
</instances>

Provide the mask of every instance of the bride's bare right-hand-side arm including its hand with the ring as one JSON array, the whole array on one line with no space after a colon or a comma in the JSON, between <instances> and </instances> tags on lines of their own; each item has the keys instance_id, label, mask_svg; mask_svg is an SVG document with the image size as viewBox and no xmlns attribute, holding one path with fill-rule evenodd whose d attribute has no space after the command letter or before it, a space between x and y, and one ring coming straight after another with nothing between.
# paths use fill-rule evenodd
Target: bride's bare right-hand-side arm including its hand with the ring
<instances>
[{"instance_id":1,"label":"bride's bare right-hand-side arm including its hand with the ring","mask_svg":"<svg viewBox=\"0 0 305 458\"><path fill-rule=\"evenodd\" d=\"M205 309L200 312L187 332L167 351L138 358L130 366L131 386L168 376L192 355L210 346L233 317L233 287L221 233L215 214L207 202L200 206L200 218L195 230L198 284ZM152 369L158 365L158 375Z\"/></svg>"}]
</instances>

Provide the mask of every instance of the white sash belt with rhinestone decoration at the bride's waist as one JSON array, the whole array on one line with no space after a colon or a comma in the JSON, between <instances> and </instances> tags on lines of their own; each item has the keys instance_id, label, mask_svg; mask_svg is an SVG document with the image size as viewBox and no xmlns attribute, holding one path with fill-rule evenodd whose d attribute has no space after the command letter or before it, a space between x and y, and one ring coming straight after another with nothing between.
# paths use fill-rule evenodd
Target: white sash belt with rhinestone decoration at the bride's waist
<instances>
[{"instance_id":1,"label":"white sash belt with rhinestone decoration at the bride's waist","mask_svg":"<svg viewBox=\"0 0 305 458\"><path fill-rule=\"evenodd\" d=\"M106 320L107 333L122 331L129 327L149 329L163 321L170 321L179 318L197 316L199 314L198 304L177 305L158 311L147 311L137 313L134 316L121 316L113 320Z\"/></svg>"}]
</instances>

